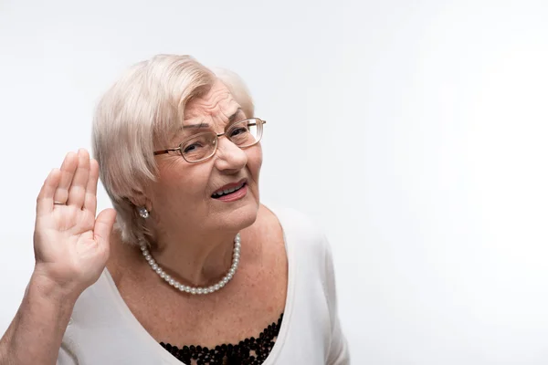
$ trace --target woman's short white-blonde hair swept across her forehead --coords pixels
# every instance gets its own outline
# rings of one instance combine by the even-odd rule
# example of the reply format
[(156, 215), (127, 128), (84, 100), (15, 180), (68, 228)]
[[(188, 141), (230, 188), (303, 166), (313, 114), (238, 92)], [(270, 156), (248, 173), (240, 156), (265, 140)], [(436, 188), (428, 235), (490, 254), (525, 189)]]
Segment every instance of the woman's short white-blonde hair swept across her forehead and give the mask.
[(133, 198), (156, 179), (153, 151), (173, 147), (166, 143), (183, 126), (186, 105), (205, 95), (217, 79), (252, 118), (253, 101), (242, 79), (227, 69), (205, 68), (190, 56), (157, 55), (142, 61), (100, 99), (93, 119), (93, 154), (124, 242), (149, 241)]

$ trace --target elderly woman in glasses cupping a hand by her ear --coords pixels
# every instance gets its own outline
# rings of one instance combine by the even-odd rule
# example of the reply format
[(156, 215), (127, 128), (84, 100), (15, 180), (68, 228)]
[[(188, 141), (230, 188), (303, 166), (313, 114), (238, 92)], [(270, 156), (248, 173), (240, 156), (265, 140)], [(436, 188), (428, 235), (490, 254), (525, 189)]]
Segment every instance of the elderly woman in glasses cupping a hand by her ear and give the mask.
[[(1, 364), (348, 364), (330, 247), (261, 205), (236, 75), (137, 64), (100, 100), (95, 159), (68, 153), (37, 198), (36, 266)], [(114, 209), (96, 217), (98, 179)]]

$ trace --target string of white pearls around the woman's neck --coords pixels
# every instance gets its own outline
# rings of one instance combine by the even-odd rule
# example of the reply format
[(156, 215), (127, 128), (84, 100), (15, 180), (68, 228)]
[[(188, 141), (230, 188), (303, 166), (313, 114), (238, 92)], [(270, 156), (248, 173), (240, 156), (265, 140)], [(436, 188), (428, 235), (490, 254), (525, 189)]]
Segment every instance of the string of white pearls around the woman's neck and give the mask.
[(189, 287), (185, 286), (181, 283), (179, 283), (177, 280), (175, 280), (173, 277), (167, 275), (163, 268), (158, 266), (156, 264), (156, 261), (154, 261), (153, 256), (149, 252), (148, 248), (146, 248), (145, 244), (141, 244), (141, 251), (142, 255), (148, 261), (151, 268), (158, 274), (160, 277), (163, 278), (170, 286), (174, 287), (175, 289), (178, 289), (179, 291), (189, 293), (189, 294), (209, 294), (216, 292), (221, 287), (225, 287), (227, 283), (232, 279), (232, 276), (236, 274), (237, 265), (239, 264), (239, 255), (240, 255), (240, 235), (237, 234), (234, 238), (234, 252), (232, 254), (232, 266), (230, 266), (230, 269), (228, 270), (228, 273), (226, 276), (224, 276), (221, 281), (216, 283), (215, 285), (212, 285), (210, 287)]

